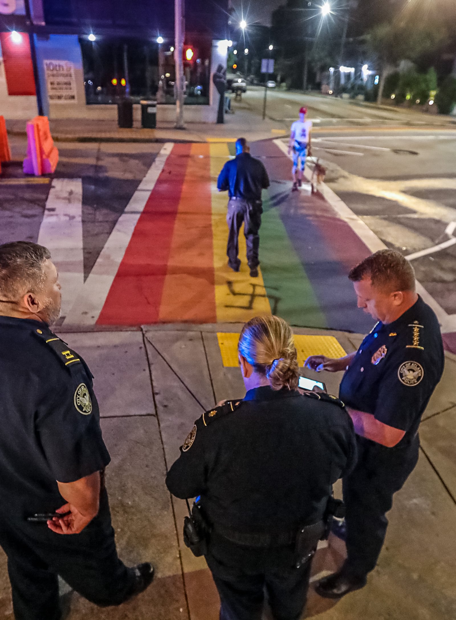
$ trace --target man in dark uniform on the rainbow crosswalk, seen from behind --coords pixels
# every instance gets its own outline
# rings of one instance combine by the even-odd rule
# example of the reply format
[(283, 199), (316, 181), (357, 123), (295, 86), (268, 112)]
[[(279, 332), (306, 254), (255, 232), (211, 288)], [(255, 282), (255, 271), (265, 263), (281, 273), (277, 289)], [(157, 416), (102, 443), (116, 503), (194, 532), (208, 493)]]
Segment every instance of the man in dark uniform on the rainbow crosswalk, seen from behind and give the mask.
[(227, 161), (218, 175), (219, 192), (228, 190), (228, 245), (226, 255), (228, 265), (238, 272), (241, 267), (239, 254), (239, 231), (244, 223), (247, 244), (247, 263), (252, 278), (258, 277), (258, 250), (260, 246), (259, 229), (263, 213), (261, 190), (269, 187), (269, 177), (259, 159), (249, 153), (245, 138), (236, 140), (236, 157)]

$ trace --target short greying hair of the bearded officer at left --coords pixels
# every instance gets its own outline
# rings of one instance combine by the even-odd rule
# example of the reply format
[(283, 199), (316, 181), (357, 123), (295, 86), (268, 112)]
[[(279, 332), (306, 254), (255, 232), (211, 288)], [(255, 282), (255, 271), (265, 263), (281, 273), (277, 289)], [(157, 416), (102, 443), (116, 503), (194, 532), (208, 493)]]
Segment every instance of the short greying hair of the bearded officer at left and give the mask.
[(0, 246), (0, 296), (16, 301), (22, 294), (43, 290), (43, 263), (51, 258), (47, 247), (31, 241), (14, 241)]

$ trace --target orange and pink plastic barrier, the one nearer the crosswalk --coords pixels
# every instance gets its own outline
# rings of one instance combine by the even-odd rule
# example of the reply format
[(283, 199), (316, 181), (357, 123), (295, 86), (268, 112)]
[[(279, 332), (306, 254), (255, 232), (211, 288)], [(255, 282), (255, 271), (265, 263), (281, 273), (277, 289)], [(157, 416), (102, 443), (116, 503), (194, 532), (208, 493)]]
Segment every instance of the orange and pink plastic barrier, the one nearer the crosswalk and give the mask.
[(49, 130), (48, 117), (35, 117), (27, 123), (27, 157), (24, 159), (24, 173), (40, 177), (55, 171), (59, 151)]

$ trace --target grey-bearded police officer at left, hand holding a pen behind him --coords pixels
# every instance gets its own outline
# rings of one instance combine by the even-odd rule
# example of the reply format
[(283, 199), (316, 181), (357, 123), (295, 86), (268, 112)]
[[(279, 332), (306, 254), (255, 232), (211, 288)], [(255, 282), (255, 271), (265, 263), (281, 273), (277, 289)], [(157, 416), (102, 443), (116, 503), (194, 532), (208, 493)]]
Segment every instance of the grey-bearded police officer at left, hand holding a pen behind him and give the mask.
[(101, 606), (153, 578), (150, 564), (129, 569), (117, 555), (92, 374), (49, 329), (60, 306), (49, 251), (0, 246), (0, 545), (16, 620), (61, 618), (58, 575)]

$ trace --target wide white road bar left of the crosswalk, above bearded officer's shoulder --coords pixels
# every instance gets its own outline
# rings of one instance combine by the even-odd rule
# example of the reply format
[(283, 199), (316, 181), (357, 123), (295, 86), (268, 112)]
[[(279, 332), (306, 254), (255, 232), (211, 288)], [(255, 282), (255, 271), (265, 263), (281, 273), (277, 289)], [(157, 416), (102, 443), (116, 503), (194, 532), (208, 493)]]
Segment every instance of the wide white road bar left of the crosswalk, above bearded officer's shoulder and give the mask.
[(62, 316), (71, 310), (84, 285), (82, 179), (53, 179), (38, 244), (51, 252), (62, 286)]

